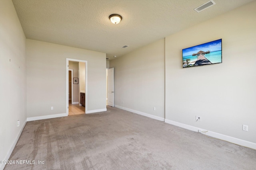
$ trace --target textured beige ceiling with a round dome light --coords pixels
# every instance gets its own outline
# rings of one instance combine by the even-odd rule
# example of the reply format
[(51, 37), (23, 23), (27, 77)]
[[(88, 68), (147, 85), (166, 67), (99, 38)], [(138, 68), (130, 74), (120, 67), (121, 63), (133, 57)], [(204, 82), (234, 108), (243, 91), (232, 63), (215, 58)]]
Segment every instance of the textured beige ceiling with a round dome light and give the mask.
[[(120, 57), (252, 0), (12, 0), (28, 39)], [(120, 14), (114, 25), (108, 19)], [(129, 47), (122, 48), (124, 45)]]

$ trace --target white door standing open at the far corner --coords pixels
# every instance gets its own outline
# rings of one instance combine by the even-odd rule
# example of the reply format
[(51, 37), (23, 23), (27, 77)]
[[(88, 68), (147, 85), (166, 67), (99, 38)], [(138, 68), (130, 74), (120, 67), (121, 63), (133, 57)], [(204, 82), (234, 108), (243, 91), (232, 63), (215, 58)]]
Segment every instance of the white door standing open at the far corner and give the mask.
[(114, 107), (114, 68), (108, 68), (108, 106)]

